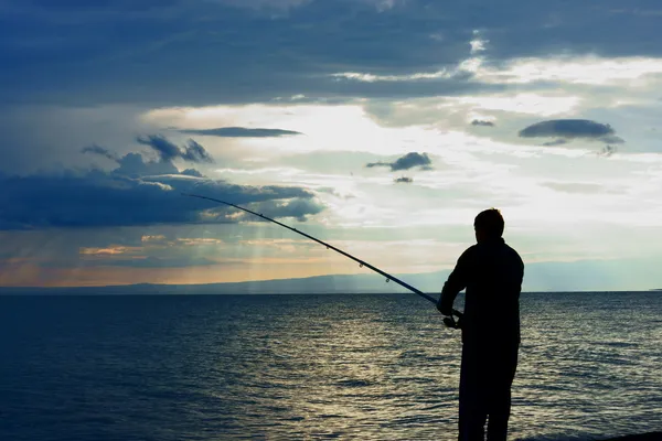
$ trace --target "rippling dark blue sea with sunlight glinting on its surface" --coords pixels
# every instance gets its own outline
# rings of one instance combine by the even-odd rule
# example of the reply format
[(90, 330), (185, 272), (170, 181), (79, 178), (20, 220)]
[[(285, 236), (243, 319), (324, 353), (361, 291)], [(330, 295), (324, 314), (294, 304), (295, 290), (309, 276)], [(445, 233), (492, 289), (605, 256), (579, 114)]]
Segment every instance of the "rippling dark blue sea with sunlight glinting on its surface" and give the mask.
[[(662, 292), (522, 295), (510, 439), (662, 429)], [(453, 440), (415, 294), (0, 297), (1, 440)]]

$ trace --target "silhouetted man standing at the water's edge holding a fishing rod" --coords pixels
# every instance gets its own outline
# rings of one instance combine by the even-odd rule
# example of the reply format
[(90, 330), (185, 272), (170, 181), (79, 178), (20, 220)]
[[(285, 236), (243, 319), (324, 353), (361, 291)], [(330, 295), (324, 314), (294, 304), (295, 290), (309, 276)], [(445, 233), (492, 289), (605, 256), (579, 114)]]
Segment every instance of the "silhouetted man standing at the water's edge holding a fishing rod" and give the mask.
[(520, 346), (520, 291), (524, 263), (503, 238), (501, 213), (476, 216), (477, 244), (458, 259), (444, 284), (437, 309), (451, 315), (457, 294), (467, 289), (460, 370), (460, 441), (505, 440), (511, 385)]

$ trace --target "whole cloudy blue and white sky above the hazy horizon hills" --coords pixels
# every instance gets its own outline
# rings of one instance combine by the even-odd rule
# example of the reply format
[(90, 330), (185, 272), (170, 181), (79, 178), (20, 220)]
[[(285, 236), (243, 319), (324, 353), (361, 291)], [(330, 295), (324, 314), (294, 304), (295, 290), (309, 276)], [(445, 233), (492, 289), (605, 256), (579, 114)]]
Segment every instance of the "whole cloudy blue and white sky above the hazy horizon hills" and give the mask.
[(0, 0), (0, 286), (366, 272), (195, 193), (398, 275), (496, 207), (535, 277), (662, 288), (661, 39), (656, 0)]

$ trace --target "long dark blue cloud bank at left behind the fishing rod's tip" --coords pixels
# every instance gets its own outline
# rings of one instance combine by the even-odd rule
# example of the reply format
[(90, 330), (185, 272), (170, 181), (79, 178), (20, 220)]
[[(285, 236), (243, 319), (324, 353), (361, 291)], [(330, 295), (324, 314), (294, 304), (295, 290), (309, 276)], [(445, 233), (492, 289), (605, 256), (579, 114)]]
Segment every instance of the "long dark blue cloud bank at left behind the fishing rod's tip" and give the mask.
[(145, 162), (138, 153), (118, 162), (111, 172), (0, 176), (0, 229), (237, 222), (226, 207), (181, 193), (248, 204), (267, 216), (299, 220), (323, 209), (303, 187), (236, 185), (179, 174), (172, 163)]

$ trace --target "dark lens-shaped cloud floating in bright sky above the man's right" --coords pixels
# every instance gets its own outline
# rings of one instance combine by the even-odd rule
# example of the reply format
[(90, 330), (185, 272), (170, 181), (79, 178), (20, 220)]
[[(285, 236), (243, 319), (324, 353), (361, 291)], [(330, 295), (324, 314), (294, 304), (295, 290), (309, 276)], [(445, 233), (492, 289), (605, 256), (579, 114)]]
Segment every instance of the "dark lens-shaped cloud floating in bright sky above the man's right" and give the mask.
[(601, 139), (615, 133), (611, 126), (589, 119), (551, 119), (520, 130), (522, 138)]

